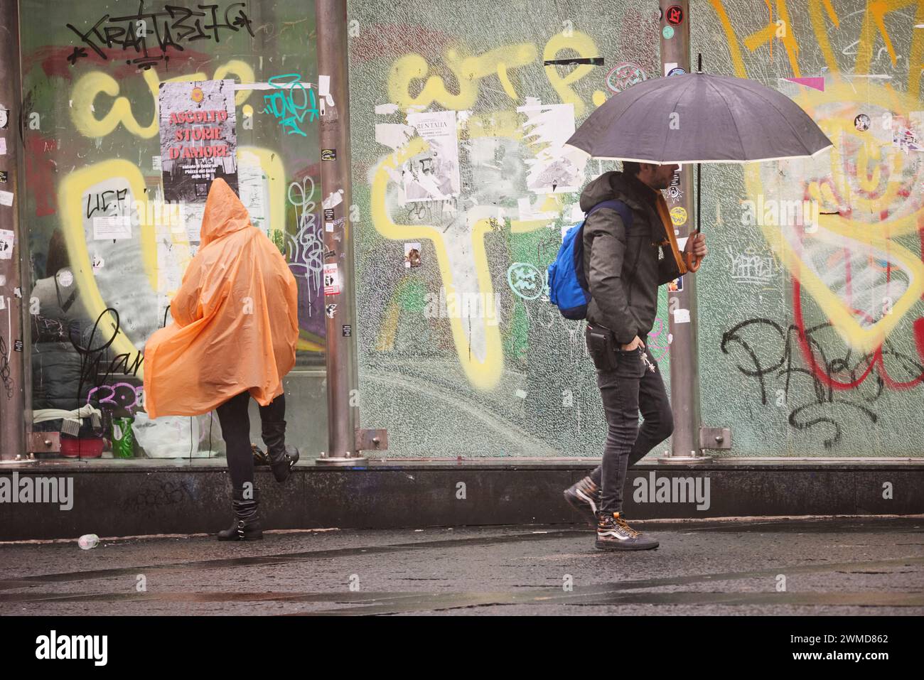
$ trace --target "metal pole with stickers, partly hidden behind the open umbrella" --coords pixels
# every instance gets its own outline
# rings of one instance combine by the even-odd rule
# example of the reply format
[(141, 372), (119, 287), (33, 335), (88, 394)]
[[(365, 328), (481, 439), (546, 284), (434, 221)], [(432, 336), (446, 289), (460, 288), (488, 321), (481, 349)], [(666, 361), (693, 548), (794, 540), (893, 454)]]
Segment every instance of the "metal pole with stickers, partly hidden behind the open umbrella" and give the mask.
[[(660, 0), (662, 76), (690, 72), (689, 0)], [(680, 129), (684, 121), (679, 120)], [(690, 236), (693, 222), (693, 165), (683, 165), (678, 173), (681, 196), (671, 203), (677, 238)], [(682, 208), (682, 211), (675, 210)], [(680, 222), (680, 220), (683, 222)], [(680, 224), (677, 224), (680, 222)], [(699, 448), (699, 367), (697, 347), (696, 274), (683, 277), (683, 290), (668, 293), (668, 328), (671, 341), (671, 407), (674, 409), (674, 436), (671, 454), (659, 458), (663, 463), (689, 463), (708, 460)]]

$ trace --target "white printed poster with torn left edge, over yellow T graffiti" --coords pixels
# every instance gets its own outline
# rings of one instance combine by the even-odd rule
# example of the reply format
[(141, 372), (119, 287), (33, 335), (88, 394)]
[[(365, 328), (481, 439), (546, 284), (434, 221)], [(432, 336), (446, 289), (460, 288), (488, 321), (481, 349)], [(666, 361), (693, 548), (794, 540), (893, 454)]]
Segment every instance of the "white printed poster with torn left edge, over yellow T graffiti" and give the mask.
[(420, 138), (429, 142), (430, 149), (404, 165), (405, 199), (411, 202), (458, 196), (462, 182), (459, 179), (456, 112), (408, 114), (407, 124), (417, 130)]

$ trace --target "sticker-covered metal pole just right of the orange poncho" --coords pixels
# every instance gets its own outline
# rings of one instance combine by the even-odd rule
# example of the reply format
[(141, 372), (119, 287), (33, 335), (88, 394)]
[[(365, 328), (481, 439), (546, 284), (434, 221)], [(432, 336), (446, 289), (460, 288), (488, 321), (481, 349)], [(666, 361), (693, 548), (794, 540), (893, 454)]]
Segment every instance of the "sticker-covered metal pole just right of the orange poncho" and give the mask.
[[(356, 285), (350, 205), (346, 0), (315, 0), (321, 143), (328, 450), (320, 465), (362, 465), (357, 450)], [(350, 407), (353, 400), (354, 407)]]

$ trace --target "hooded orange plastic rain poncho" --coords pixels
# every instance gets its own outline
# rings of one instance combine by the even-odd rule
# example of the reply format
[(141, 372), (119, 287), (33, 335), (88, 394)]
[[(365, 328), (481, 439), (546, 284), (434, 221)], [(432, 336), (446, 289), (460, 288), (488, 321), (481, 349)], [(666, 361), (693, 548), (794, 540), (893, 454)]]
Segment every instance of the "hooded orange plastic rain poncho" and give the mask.
[(197, 416), (245, 390), (261, 406), (283, 393), (298, 342), (295, 277), (224, 179), (209, 190), (201, 246), (170, 312), (144, 348), (150, 418)]

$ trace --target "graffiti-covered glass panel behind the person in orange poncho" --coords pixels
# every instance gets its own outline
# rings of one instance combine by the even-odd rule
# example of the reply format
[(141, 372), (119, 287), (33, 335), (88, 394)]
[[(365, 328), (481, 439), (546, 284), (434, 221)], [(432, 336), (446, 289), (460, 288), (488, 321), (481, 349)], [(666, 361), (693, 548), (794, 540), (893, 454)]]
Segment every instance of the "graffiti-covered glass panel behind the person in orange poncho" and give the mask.
[[(294, 2), (148, 0), (24, 0), (20, 13), (32, 407), (100, 408), (80, 438), (107, 445), (111, 422), (133, 423), (135, 455), (211, 455), (213, 414), (146, 419), (144, 345), (171, 321), (221, 176), (298, 279), (289, 387), (322, 366), (313, 16)], [(296, 408), (325, 431), (322, 408)]]

